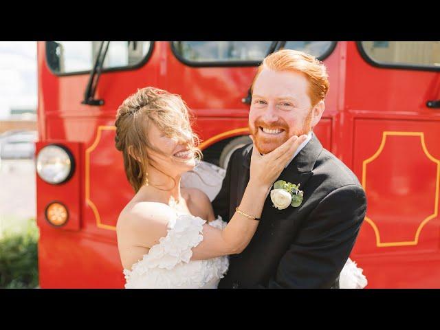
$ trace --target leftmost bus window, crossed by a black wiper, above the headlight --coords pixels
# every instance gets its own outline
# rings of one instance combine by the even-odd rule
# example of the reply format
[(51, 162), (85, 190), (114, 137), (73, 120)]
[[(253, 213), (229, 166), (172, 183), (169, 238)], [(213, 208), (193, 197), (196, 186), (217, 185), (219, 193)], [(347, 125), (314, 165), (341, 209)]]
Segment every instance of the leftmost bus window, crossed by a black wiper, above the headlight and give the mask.
[[(101, 41), (48, 41), (47, 64), (54, 74), (87, 74), (94, 65)], [(104, 60), (106, 69), (130, 69), (145, 63), (151, 41), (111, 41)]]

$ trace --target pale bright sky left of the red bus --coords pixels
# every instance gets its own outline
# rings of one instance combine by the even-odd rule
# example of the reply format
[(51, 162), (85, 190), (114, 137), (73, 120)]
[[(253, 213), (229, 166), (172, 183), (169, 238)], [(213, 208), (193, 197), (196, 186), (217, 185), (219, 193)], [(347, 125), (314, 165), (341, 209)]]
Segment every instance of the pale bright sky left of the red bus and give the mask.
[(0, 120), (10, 108), (36, 109), (36, 42), (0, 41)]

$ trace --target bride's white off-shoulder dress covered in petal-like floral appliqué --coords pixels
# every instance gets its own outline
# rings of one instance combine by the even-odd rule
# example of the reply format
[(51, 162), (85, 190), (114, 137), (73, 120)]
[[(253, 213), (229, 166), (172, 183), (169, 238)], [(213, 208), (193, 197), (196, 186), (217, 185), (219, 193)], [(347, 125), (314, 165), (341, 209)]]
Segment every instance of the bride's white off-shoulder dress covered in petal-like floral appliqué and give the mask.
[[(190, 214), (177, 214), (168, 221), (168, 232), (130, 270), (124, 270), (126, 289), (217, 288), (228, 270), (228, 256), (191, 261), (192, 248), (203, 240), (206, 221)], [(218, 217), (210, 221), (214, 228), (225, 228)]]

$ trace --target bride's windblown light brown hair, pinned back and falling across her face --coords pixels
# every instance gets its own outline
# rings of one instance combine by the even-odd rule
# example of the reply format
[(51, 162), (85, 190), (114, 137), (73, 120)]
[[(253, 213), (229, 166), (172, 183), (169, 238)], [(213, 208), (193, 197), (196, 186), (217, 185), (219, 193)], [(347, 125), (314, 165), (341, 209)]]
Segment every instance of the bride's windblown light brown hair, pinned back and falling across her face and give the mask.
[[(196, 159), (201, 160), (201, 151), (197, 148), (199, 137), (191, 129), (192, 120), (184, 100), (162, 89), (138, 89), (122, 102), (116, 113), (115, 146), (122, 151), (125, 174), (135, 192), (144, 184), (148, 185), (148, 166), (164, 173), (148, 159), (148, 150), (164, 155), (160, 148), (148, 141), (147, 131), (151, 123), (167, 137), (188, 143)], [(175, 182), (173, 177), (170, 178)]]

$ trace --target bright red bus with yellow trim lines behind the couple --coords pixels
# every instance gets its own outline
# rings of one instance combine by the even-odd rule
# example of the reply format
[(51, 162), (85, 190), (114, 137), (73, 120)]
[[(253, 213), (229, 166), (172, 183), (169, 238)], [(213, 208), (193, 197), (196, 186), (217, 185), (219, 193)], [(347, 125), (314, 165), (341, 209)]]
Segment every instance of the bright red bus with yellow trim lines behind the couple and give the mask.
[[(118, 214), (133, 196), (115, 112), (138, 88), (179, 94), (204, 160), (248, 142), (248, 90), (281, 47), (325, 63), (314, 129), (358, 176), (368, 210), (351, 253), (367, 288), (440, 287), (440, 43), (330, 41), (39, 42), (36, 143), (42, 288), (122, 288)], [(340, 207), (340, 206), (338, 206)]]

